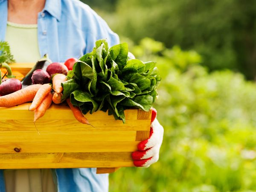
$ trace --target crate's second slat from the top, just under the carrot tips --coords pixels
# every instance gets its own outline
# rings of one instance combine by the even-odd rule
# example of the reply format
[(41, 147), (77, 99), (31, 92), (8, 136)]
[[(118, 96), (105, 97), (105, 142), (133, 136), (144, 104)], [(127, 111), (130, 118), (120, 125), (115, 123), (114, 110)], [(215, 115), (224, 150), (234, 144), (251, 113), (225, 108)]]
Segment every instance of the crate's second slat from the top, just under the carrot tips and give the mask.
[(141, 131), (148, 130), (148, 120), (90, 120), (93, 126), (79, 123), (77, 120), (0, 120), (1, 131)]

